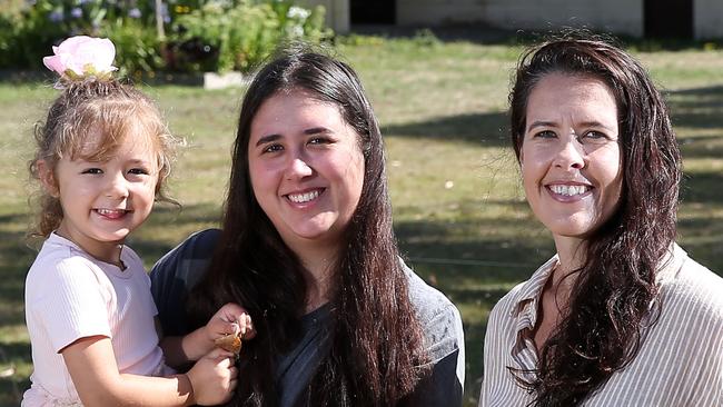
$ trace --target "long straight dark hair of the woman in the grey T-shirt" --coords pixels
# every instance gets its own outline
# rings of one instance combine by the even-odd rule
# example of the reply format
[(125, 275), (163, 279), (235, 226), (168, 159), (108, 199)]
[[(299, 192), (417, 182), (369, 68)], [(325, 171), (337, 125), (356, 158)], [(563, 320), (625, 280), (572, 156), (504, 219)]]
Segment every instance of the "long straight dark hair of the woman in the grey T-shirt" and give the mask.
[(359, 136), (364, 186), (344, 234), (331, 287), (331, 344), (314, 375), (314, 406), (394, 406), (412, 391), (425, 361), (422, 329), (392, 228), (382, 135), (357, 75), (321, 53), (291, 50), (263, 68), (241, 107), (222, 232), (207, 275), (191, 292), (200, 325), (227, 301), (248, 309), (257, 336), (245, 345), (234, 404), (274, 406), (275, 359), (298, 339), (304, 269), (259, 207), (248, 166), (250, 127), (279, 92), (303, 91), (338, 107)]

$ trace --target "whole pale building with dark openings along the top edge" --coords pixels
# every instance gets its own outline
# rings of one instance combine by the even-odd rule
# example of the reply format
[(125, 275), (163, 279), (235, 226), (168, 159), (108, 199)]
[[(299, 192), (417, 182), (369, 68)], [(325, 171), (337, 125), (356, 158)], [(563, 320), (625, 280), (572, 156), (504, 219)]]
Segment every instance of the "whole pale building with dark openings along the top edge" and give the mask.
[(436, 26), (484, 22), (503, 29), (585, 26), (633, 37), (723, 37), (720, 0), (306, 0), (324, 4), (337, 32), (353, 23)]

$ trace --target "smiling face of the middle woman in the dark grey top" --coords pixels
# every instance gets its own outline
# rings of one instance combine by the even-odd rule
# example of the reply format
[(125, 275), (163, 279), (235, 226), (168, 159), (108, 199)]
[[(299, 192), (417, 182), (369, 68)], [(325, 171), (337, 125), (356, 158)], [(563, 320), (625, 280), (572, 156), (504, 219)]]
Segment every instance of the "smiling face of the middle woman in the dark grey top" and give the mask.
[(338, 244), (364, 183), (358, 137), (336, 106), (298, 90), (270, 97), (254, 117), (254, 195), (291, 249)]

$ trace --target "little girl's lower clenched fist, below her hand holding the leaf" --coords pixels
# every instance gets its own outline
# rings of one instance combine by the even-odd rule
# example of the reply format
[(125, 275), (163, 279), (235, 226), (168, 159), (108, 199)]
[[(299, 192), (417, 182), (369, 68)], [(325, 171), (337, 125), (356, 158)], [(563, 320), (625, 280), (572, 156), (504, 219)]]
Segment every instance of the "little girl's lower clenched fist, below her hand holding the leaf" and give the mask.
[(201, 406), (228, 403), (238, 384), (234, 354), (214, 349), (198, 359), (186, 374), (194, 388), (194, 400)]

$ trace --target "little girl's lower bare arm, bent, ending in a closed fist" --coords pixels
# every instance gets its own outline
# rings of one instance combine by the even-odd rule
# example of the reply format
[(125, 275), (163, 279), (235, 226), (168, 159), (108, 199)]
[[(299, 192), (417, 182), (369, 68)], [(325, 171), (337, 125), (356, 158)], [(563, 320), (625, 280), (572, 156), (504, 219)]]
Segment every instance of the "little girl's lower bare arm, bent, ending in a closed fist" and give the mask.
[(232, 355), (215, 349), (185, 375), (147, 377), (120, 374), (110, 339), (92, 336), (61, 350), (85, 406), (189, 406), (228, 401), (236, 387)]

